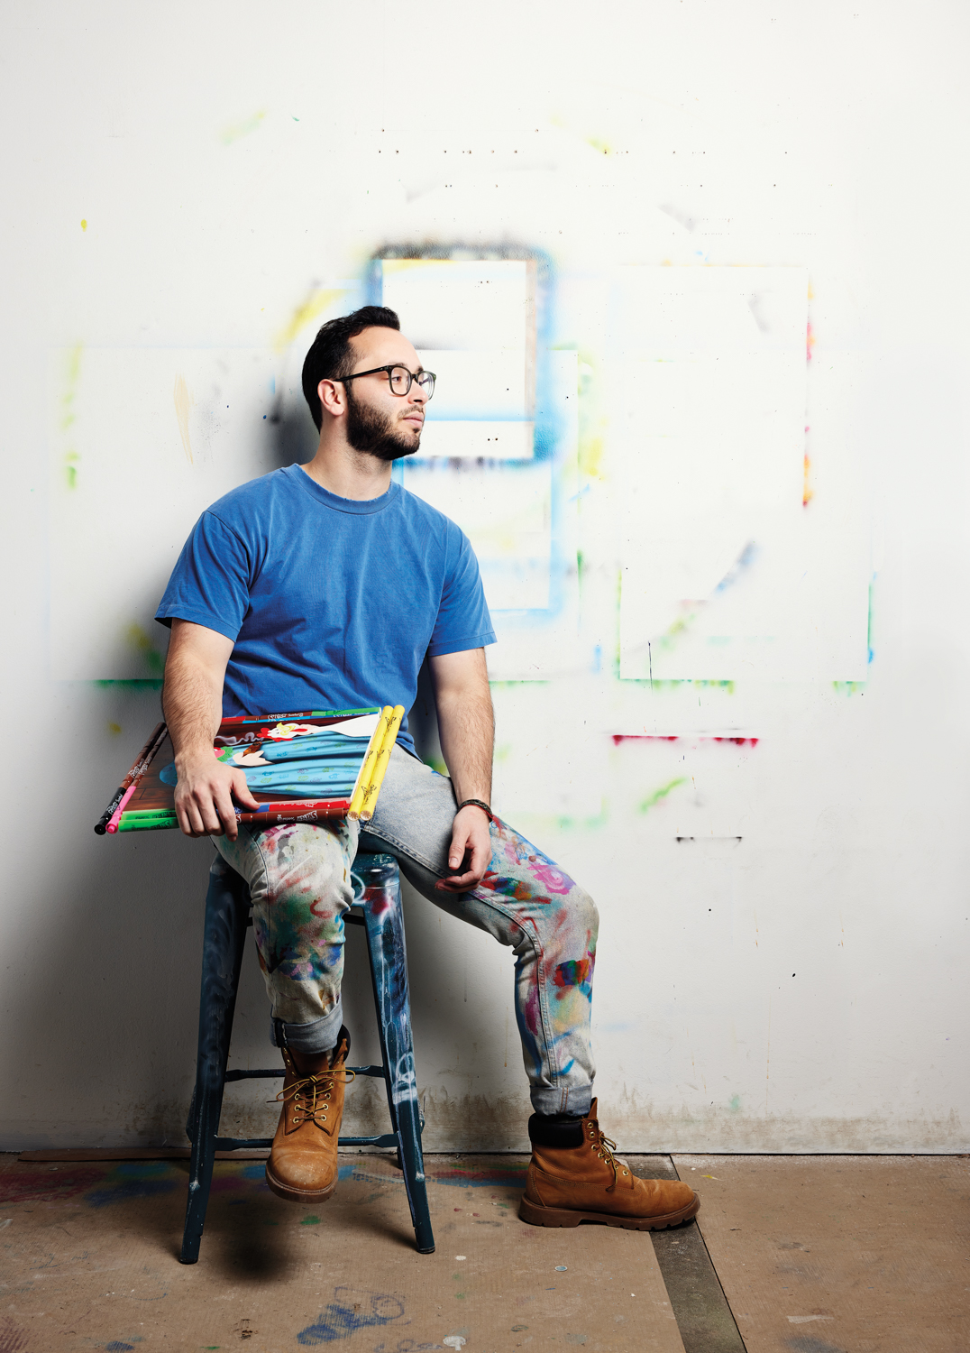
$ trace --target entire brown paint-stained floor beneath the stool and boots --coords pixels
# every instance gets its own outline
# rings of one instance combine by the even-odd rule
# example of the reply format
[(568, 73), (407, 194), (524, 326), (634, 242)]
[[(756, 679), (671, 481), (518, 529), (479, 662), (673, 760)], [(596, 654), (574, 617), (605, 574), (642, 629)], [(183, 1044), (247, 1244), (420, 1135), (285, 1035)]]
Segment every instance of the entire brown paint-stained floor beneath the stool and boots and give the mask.
[(0, 1353), (970, 1350), (966, 1157), (632, 1157), (702, 1196), (652, 1238), (522, 1224), (521, 1157), (426, 1165), (433, 1256), (387, 1157), (345, 1157), (317, 1211), (233, 1160), (185, 1268), (185, 1161), (0, 1157)]

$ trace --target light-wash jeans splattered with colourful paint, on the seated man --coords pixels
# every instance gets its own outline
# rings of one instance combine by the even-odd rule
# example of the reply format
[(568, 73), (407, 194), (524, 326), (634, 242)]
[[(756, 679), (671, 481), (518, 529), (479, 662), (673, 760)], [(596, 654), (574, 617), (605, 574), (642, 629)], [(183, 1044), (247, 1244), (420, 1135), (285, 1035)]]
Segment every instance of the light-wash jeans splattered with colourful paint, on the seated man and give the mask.
[(452, 782), (395, 748), (377, 810), (356, 821), (288, 823), (235, 842), (215, 838), (223, 859), (249, 884), (260, 967), (287, 1042), (317, 1053), (334, 1046), (342, 1022), (344, 915), (352, 902), (357, 850), (394, 855), (430, 902), (488, 931), (515, 954), (515, 1016), (537, 1112), (584, 1114), (593, 1095), (590, 1001), (597, 951), (593, 898), (505, 823), (491, 827), (492, 855), (468, 893), (438, 892), (448, 867)]

